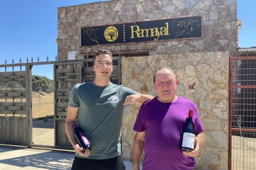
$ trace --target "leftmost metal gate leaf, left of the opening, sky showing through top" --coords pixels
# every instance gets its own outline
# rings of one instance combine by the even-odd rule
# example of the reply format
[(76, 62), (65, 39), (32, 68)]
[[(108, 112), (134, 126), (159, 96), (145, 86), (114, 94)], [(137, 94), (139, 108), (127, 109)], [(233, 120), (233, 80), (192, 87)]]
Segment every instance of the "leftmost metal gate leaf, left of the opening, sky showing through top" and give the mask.
[(0, 144), (32, 143), (31, 67), (28, 63), (0, 65)]

